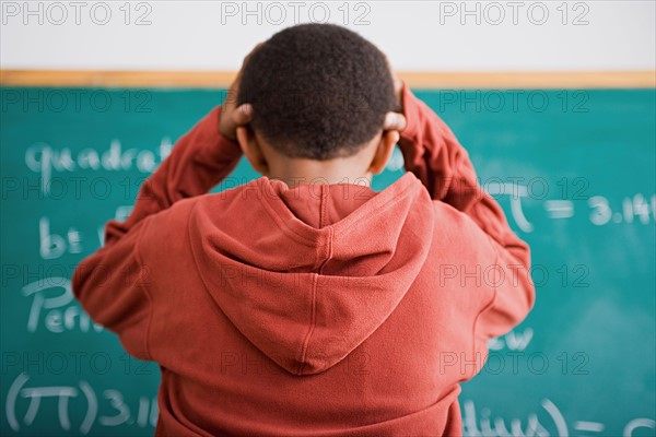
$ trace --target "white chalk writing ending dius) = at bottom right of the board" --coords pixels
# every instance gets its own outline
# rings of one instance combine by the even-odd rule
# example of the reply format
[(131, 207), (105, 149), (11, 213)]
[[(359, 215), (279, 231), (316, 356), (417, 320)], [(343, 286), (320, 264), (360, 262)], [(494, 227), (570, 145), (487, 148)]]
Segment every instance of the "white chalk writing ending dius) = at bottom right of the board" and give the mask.
[[(472, 400), (462, 402), (462, 434), (468, 437), (570, 437), (585, 433), (585, 436), (614, 436), (609, 434), (604, 422), (599, 421), (567, 421), (554, 401), (546, 398), (540, 402), (541, 411), (528, 414), (525, 423), (519, 418), (506, 421), (503, 417), (492, 417), (491, 411), (483, 408), (477, 412)], [(540, 421), (540, 417), (542, 420)], [(508, 426), (509, 423), (509, 426)], [(654, 435), (656, 422), (648, 417), (636, 417), (623, 425), (622, 437)], [(572, 434), (573, 433), (573, 434)], [(618, 436), (619, 437), (619, 436)]]

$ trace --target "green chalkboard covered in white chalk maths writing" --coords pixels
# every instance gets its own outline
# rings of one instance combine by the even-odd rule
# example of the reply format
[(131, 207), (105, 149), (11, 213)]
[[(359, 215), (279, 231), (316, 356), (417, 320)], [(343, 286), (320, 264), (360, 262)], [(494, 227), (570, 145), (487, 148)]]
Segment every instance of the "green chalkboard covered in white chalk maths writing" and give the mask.
[[(465, 434), (655, 435), (656, 92), (418, 95), (532, 247), (536, 308), (464, 385)], [(157, 366), (91, 323), (69, 280), (223, 96), (2, 90), (1, 435), (153, 434)], [(374, 188), (401, 168), (395, 154)], [(255, 177), (243, 162), (218, 189)]]

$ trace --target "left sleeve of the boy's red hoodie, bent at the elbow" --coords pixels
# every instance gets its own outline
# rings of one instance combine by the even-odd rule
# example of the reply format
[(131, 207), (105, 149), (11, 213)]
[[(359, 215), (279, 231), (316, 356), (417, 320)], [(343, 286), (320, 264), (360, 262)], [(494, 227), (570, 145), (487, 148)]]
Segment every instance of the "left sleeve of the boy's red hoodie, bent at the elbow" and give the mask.
[(239, 146), (219, 132), (221, 107), (212, 109), (173, 147), (172, 154), (142, 185), (125, 222), (109, 221), (105, 245), (73, 273), (73, 294), (91, 318), (116, 332), (133, 356), (151, 359), (149, 265), (139, 253), (139, 239), (149, 217), (175, 202), (207, 193), (237, 165)]

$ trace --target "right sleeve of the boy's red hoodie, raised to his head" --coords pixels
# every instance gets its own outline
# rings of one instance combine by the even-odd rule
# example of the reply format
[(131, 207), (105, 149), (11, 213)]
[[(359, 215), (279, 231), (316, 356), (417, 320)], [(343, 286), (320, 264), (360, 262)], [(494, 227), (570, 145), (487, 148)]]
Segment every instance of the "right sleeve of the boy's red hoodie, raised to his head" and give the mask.
[(427, 188), (433, 200), (448, 203), (468, 215), (493, 246), (499, 271), (494, 297), (477, 321), (477, 333), (493, 338), (520, 322), (535, 302), (529, 277), (530, 250), (508, 226), (499, 203), (478, 184), (467, 151), (448, 126), (403, 84), (403, 111), (408, 121), (399, 146), (406, 169)]

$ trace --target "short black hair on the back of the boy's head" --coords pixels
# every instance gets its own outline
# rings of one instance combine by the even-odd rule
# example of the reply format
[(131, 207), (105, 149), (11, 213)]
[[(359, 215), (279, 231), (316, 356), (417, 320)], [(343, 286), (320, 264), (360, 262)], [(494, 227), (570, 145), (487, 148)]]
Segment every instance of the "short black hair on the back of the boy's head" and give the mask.
[(250, 127), (289, 157), (355, 154), (395, 109), (383, 52), (333, 24), (288, 27), (262, 44), (242, 71), (237, 104), (253, 105)]

